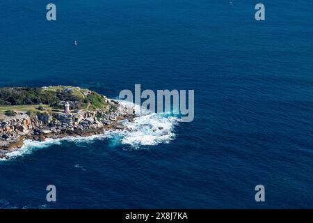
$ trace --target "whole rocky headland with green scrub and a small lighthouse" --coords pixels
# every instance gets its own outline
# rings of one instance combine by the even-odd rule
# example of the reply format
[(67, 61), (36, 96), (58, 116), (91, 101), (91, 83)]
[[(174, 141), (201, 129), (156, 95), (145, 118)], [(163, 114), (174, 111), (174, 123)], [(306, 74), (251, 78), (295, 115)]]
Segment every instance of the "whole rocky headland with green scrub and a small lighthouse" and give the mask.
[(95, 91), (73, 86), (0, 89), (0, 158), (25, 139), (88, 137), (122, 130), (135, 112)]

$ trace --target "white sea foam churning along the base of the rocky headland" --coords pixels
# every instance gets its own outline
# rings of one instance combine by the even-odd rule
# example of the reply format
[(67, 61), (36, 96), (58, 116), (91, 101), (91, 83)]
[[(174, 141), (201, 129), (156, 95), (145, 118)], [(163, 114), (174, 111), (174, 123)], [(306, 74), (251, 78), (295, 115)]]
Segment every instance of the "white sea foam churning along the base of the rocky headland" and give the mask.
[[(95, 140), (118, 139), (118, 144), (125, 144), (131, 148), (140, 148), (141, 146), (154, 146), (157, 144), (168, 144), (175, 139), (174, 128), (179, 122), (179, 118), (168, 114), (156, 114), (147, 110), (140, 111), (138, 105), (131, 102), (121, 102), (125, 107), (134, 108), (138, 116), (134, 122), (121, 121), (127, 130), (107, 131), (104, 134), (97, 134), (90, 137), (65, 137), (62, 139), (46, 139), (45, 141), (25, 140), (24, 146), (17, 151), (7, 153), (9, 158), (28, 155), (42, 148), (52, 145), (60, 145), (63, 141), (71, 141), (79, 147), (87, 147)], [(0, 159), (7, 160), (6, 158)]]

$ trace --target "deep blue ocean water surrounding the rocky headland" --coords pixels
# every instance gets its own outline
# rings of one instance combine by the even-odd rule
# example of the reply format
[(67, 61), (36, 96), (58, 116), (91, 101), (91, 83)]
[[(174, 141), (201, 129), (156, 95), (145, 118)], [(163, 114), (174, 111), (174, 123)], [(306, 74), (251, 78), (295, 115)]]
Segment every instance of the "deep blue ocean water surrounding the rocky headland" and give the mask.
[(29, 142), (0, 208), (313, 208), (313, 2), (262, 1), (263, 22), (256, 3), (1, 1), (0, 86), (194, 89), (195, 119), (151, 145)]

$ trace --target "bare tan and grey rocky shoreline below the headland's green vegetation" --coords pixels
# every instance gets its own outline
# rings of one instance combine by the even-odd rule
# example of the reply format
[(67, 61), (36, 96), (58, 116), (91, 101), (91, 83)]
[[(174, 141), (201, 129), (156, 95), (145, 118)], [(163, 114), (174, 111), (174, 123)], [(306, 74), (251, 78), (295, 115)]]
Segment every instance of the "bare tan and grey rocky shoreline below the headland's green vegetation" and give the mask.
[[(17, 116), (0, 121), (0, 159), (7, 153), (17, 151), (24, 140), (45, 141), (64, 137), (90, 137), (105, 131), (124, 130), (121, 121), (134, 121), (135, 112), (119, 102), (107, 99), (106, 111), (79, 110), (72, 113), (36, 114), (30, 116), (18, 112)], [(110, 109), (114, 107), (114, 111)]]

